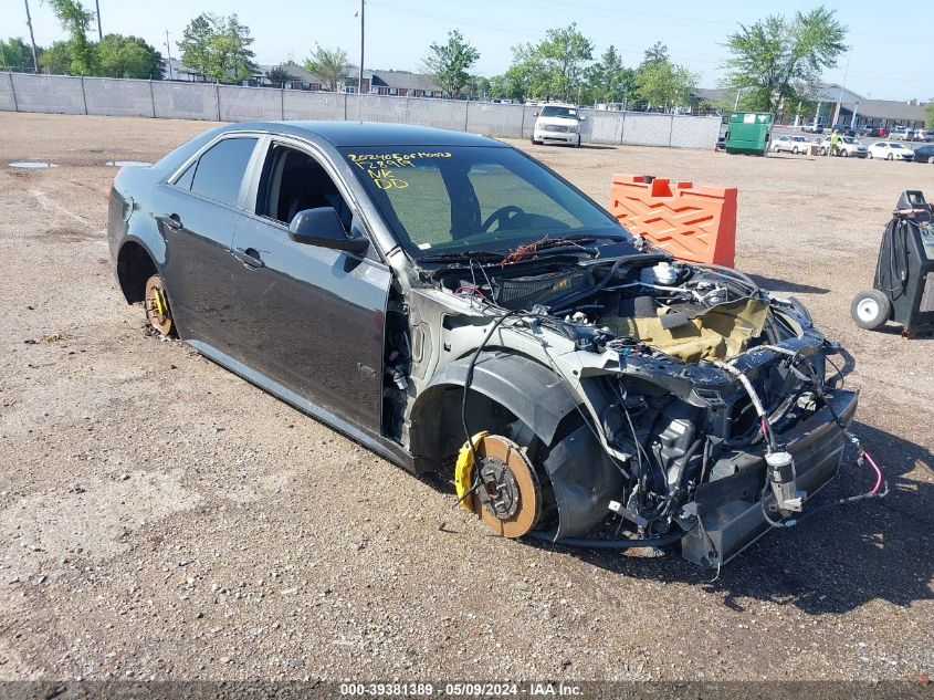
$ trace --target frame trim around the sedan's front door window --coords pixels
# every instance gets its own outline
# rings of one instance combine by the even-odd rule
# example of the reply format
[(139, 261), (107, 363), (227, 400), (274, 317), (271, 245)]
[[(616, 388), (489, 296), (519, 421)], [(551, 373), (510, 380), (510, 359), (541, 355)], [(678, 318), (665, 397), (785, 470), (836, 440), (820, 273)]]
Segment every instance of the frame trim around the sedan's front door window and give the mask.
[[(322, 167), (322, 169), (324, 169), (324, 171), (337, 187), (337, 191), (344, 198), (344, 201), (347, 202), (347, 205), (350, 207), (351, 220), (357, 219), (357, 221), (359, 221), (360, 233), (366, 236), (369, 240), (367, 251), (363, 255), (353, 253), (350, 251), (342, 252), (347, 255), (350, 255), (354, 260), (365, 260), (367, 262), (375, 263), (381, 268), (389, 269), (386, 255), (384, 254), (382, 250), (380, 250), (379, 245), (376, 244), (376, 237), (371, 232), (369, 221), (367, 221), (366, 217), (364, 216), (363, 209), (357, 202), (357, 198), (353, 196), (350, 188), (347, 187), (347, 184), (343, 180), (340, 175), (337, 173), (336, 168), (333, 167), (333, 165), (327, 158), (327, 155), (314, 144), (306, 142), (302, 138), (290, 136), (286, 134), (265, 134), (265, 139), (261, 144), (261, 148), (253, 153), (255, 161), (253, 163), (253, 170), (250, 176), (249, 184), (244, 181), (244, 184), (246, 184), (248, 186), (245, 191), (246, 199), (244, 201), (244, 207), (242, 211), (243, 216), (253, 219), (254, 221), (262, 221), (267, 226), (281, 229), (285, 233), (285, 236), (288, 236), (287, 223), (283, 223), (279, 219), (273, 219), (271, 217), (265, 217), (256, 213), (256, 207), (259, 205), (258, 199), (260, 197), (260, 180), (263, 177), (263, 168), (265, 167), (266, 158), (269, 158), (273, 147), (276, 144), (281, 144), (282, 146), (286, 146), (288, 148), (294, 148), (295, 150), (302, 152), (307, 156), (314, 158), (315, 163), (317, 163)], [(376, 260), (370, 257), (370, 250), (374, 250), (376, 252)]]

